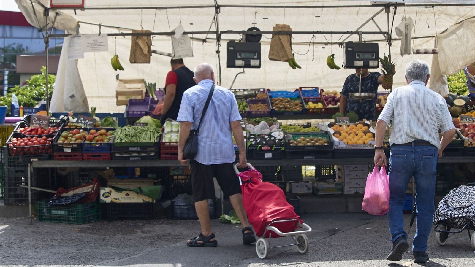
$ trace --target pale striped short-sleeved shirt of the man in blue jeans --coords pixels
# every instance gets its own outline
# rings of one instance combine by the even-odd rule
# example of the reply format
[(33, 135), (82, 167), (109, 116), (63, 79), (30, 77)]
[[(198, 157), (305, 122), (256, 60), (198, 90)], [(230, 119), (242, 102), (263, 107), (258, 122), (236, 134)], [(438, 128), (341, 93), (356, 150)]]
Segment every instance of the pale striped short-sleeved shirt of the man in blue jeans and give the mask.
[(378, 119), (388, 125), (392, 119), (391, 145), (424, 140), (440, 148), (439, 129), (445, 133), (454, 128), (445, 99), (421, 81), (396, 88)]

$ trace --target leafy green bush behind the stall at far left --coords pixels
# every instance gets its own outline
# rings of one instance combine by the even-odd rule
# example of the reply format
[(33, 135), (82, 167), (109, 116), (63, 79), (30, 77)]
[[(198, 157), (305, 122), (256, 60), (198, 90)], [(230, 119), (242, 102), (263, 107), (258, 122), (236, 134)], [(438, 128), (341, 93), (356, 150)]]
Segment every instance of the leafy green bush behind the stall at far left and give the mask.
[[(56, 76), (48, 75), (49, 99), (53, 95)], [(8, 106), (7, 116), (10, 115), (11, 95), (18, 97), (18, 104), (23, 107), (35, 107), (39, 101), (46, 99), (46, 67), (41, 67), (41, 74), (33, 75), (27, 80), (26, 86), (15, 86), (8, 90), (6, 96), (0, 96), (0, 105)]]

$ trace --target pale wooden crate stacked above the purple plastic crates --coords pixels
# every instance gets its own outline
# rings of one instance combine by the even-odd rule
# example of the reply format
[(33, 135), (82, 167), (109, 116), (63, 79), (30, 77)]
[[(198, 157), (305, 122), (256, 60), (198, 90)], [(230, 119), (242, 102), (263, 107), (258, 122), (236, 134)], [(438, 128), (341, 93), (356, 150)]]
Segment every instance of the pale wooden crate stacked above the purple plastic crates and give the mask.
[(142, 79), (119, 79), (115, 87), (115, 104), (128, 105), (129, 99), (143, 99), (144, 94)]

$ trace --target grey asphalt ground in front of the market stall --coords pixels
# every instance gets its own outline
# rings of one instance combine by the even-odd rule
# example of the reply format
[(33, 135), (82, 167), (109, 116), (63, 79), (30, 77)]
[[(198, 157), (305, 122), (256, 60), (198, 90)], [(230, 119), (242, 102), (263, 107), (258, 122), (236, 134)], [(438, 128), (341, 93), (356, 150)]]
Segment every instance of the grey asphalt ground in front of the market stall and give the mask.
[[(257, 257), (254, 245), (242, 245), (240, 227), (219, 220), (212, 220), (218, 247), (189, 248), (186, 239), (199, 234), (196, 220), (103, 220), (67, 225), (0, 219), (0, 266), (417, 266), (410, 249), (400, 262), (386, 260), (391, 244), (385, 217), (310, 213), (302, 215), (302, 219), (313, 228), (307, 235), (308, 253), (300, 254), (295, 247), (272, 248), (264, 260)], [(409, 224), (409, 215), (406, 222)], [(411, 229), (410, 239), (414, 231)], [(446, 246), (439, 247), (434, 236), (433, 232), (428, 250), (431, 260), (426, 266), (475, 266), (470, 241), (448, 239)], [(455, 237), (466, 238), (467, 234)], [(270, 239), (271, 246), (290, 243), (290, 237)]]

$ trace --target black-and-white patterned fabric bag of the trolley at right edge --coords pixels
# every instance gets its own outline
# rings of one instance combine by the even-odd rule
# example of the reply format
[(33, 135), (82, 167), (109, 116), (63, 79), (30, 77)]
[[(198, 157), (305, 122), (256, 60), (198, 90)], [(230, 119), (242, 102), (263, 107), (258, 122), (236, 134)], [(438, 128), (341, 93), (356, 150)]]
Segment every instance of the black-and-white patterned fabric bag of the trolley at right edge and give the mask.
[(462, 185), (452, 189), (442, 200), (434, 214), (434, 225), (438, 223), (455, 229), (463, 228), (467, 222), (475, 230), (475, 186)]

